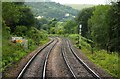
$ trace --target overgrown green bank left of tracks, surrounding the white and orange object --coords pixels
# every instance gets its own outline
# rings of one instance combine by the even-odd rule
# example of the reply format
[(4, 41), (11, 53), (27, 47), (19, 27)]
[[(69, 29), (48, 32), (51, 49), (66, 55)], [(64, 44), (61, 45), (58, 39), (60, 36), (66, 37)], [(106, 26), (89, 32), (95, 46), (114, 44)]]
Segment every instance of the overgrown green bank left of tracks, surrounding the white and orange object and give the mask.
[(28, 48), (25, 49), (20, 43), (11, 42), (11, 37), (17, 35), (10, 34), (8, 27), (4, 27), (2, 30), (2, 61), (0, 61), (2, 68), (0, 72), (4, 72), (6, 68), (14, 66), (15, 63), (19, 62), (38, 46), (49, 41), (47, 33), (42, 30), (31, 28), (31, 30), (28, 31), (29, 35), (26, 33), (26, 36), (23, 36), (28, 40)]

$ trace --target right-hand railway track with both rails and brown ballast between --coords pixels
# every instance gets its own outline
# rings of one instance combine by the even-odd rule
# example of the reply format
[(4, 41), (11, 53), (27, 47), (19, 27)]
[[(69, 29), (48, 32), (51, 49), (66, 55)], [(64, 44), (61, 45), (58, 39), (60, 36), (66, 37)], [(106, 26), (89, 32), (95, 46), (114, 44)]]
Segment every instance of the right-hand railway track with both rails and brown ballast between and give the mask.
[(77, 78), (91, 78), (101, 79), (86, 63), (80, 59), (73, 50), (69, 40), (63, 39), (62, 55), (64, 61), (69, 68), (71, 74), (75, 79)]

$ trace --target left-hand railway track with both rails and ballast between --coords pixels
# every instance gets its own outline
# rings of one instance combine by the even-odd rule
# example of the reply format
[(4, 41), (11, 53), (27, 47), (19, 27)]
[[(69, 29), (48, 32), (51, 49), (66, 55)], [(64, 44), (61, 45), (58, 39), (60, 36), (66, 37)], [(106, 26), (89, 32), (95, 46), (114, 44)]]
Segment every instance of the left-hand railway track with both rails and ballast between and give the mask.
[(43, 46), (23, 67), (17, 79), (33, 77), (45, 79), (48, 56), (57, 42), (58, 39), (55, 38)]

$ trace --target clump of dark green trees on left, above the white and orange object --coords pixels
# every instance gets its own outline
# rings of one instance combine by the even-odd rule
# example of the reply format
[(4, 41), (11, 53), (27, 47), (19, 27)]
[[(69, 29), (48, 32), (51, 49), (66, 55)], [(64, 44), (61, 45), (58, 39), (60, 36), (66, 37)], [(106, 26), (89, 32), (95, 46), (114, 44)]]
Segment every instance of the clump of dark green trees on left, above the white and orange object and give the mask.
[[(26, 6), (24, 2), (3, 2), (2, 19), (3, 34), (9, 31), (11, 36), (30, 38), (36, 45), (39, 45), (42, 39), (47, 39), (47, 35), (43, 35), (46, 34), (45, 31), (37, 28), (41, 26), (39, 20), (35, 18), (30, 7)], [(6, 33), (6, 36), (8, 35)]]

